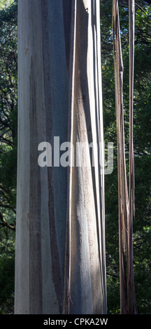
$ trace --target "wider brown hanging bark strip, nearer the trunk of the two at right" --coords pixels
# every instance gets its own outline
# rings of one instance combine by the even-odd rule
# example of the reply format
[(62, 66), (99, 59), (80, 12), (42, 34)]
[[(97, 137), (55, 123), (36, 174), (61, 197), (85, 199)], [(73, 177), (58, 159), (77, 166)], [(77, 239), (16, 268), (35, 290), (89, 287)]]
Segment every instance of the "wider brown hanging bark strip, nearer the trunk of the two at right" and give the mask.
[[(116, 43), (115, 43), (116, 41)], [(113, 47), (115, 60), (115, 104), (117, 117), (117, 165), (118, 165), (118, 197), (119, 197), (119, 248), (120, 248), (120, 303), (121, 313), (127, 314), (127, 221), (128, 190), (124, 148), (124, 113), (123, 113), (123, 63), (120, 42), (120, 22), (118, 1), (113, 0)], [(124, 247), (125, 246), (125, 247)]]

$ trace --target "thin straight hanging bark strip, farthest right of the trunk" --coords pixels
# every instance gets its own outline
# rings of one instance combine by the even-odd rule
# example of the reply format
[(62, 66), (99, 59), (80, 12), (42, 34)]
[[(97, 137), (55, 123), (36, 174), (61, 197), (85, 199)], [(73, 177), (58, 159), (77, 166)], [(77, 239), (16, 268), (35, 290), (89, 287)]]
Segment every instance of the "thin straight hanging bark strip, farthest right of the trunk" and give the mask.
[(133, 145), (133, 116), (134, 116), (134, 25), (135, 3), (129, 0), (129, 265), (128, 265), (128, 291), (129, 313), (136, 314), (136, 297), (133, 269), (133, 216), (135, 215), (134, 196), (134, 145)]

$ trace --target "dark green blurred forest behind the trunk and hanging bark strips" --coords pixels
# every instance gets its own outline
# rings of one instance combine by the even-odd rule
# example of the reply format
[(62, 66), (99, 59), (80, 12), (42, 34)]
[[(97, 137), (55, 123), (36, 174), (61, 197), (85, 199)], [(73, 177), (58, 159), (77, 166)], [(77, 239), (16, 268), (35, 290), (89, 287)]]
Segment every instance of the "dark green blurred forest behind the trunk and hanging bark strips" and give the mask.
[[(129, 160), (128, 1), (119, 0), (119, 6), (124, 62), (125, 143)], [(105, 175), (107, 302), (108, 314), (120, 314), (112, 0), (101, 0), (100, 8), (104, 141), (106, 144), (114, 143), (113, 173)], [(135, 8), (134, 278), (138, 313), (151, 314), (151, 0), (137, 0)], [(0, 314), (13, 314), (16, 179), (17, 1), (0, 0)]]

